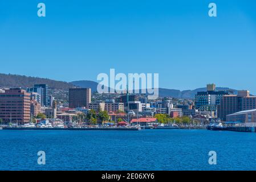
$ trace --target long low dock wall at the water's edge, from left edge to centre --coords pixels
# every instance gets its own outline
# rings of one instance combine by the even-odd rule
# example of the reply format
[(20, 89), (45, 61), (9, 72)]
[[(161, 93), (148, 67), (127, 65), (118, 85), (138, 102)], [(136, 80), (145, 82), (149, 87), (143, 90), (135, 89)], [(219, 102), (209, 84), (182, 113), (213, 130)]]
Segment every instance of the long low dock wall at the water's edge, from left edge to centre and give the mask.
[(129, 127), (3, 127), (3, 130), (91, 130), (91, 131), (138, 131), (139, 128)]

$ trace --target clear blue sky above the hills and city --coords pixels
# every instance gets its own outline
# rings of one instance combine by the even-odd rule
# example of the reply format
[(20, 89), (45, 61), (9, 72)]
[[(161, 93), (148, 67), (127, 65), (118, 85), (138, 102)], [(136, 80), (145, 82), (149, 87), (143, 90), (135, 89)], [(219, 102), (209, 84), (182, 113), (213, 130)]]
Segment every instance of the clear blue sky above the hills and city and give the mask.
[(96, 81), (115, 68), (159, 73), (162, 88), (214, 82), (256, 94), (255, 8), (253, 0), (1, 0), (0, 72)]

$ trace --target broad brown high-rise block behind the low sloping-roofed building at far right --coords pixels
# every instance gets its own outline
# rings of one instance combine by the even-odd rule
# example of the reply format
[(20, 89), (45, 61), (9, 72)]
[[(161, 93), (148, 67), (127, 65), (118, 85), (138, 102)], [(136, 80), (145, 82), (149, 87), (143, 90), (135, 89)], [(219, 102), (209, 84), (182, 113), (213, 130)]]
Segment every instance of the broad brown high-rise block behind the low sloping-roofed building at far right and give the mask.
[(226, 121), (226, 115), (251, 109), (256, 109), (256, 96), (250, 96), (247, 90), (238, 91), (237, 95), (222, 97), (218, 105), (218, 118)]

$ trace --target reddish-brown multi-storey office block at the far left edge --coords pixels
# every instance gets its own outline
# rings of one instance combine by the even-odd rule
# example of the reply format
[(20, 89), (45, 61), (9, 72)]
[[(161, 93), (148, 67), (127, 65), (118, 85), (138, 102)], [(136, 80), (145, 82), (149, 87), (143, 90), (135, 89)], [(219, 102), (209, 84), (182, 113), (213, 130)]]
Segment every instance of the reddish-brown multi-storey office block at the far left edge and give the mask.
[(0, 93), (0, 118), (3, 122), (29, 122), (30, 93), (19, 88)]

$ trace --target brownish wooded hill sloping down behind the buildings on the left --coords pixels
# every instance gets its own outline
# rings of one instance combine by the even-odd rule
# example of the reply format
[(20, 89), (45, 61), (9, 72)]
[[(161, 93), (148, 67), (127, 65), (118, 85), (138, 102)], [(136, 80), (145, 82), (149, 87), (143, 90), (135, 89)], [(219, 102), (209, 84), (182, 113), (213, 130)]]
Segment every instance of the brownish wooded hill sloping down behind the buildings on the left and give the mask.
[(55, 81), (48, 78), (38, 78), (11, 74), (7, 75), (0, 73), (0, 87), (26, 88), (31, 87), (34, 84), (48, 84), (50, 89), (58, 90), (68, 90), (68, 88), (74, 87), (74, 85), (64, 81)]

